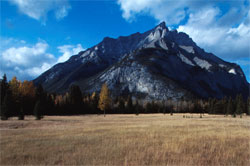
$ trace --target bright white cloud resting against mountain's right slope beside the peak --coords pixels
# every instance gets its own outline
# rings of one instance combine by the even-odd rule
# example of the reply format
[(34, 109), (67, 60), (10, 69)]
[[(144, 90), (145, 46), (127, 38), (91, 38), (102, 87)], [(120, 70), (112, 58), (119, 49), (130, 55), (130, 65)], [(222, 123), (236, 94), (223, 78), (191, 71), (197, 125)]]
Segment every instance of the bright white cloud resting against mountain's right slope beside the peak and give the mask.
[(200, 47), (222, 58), (249, 57), (250, 26), (244, 22), (235, 27), (222, 26), (220, 13), (218, 8), (209, 8), (190, 14), (188, 22), (179, 26), (178, 31), (186, 32)]

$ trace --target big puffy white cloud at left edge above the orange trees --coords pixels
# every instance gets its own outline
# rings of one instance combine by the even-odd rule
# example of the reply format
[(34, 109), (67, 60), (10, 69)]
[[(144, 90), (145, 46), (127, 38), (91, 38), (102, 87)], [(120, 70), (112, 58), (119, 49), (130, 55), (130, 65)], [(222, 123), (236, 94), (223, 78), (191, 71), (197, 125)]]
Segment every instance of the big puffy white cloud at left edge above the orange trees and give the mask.
[[(26, 42), (20, 41), (20, 43)], [(17, 76), (22, 80), (41, 74), (56, 61), (56, 57), (47, 52), (48, 47), (45, 41), (38, 41), (34, 45), (9, 47), (2, 50), (0, 52), (1, 73), (6, 73), (10, 78)]]

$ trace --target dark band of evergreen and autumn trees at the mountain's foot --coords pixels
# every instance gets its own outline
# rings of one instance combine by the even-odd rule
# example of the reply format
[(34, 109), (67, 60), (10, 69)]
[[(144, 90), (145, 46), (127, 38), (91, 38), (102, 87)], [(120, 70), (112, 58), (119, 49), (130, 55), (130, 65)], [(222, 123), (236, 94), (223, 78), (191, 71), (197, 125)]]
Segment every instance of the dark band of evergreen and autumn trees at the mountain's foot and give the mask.
[(111, 98), (110, 90), (103, 84), (100, 93), (83, 94), (77, 85), (71, 85), (65, 94), (47, 93), (41, 85), (35, 87), (31, 81), (19, 81), (6, 75), (1, 81), (1, 119), (34, 115), (37, 120), (43, 115), (83, 114), (136, 114), (141, 113), (209, 113), (236, 117), (250, 114), (250, 99), (236, 98), (144, 101), (131, 96)]

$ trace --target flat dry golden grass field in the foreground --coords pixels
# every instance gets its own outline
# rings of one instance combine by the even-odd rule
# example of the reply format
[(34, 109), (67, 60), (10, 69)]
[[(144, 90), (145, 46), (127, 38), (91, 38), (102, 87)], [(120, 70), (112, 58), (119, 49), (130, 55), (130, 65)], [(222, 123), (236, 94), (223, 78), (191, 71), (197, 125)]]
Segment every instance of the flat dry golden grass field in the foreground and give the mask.
[(0, 165), (250, 165), (250, 117), (183, 115), (0, 121)]

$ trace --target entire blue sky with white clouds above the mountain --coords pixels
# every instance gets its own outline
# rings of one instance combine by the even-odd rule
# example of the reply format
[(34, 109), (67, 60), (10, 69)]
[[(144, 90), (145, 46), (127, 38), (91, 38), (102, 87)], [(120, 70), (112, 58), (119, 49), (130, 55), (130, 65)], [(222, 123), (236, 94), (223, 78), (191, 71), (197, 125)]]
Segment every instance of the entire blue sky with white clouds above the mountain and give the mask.
[(1, 0), (0, 74), (32, 80), (106, 37), (165, 21), (250, 81), (250, 0)]

